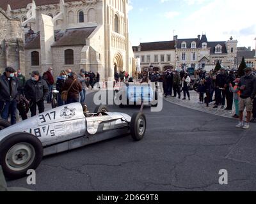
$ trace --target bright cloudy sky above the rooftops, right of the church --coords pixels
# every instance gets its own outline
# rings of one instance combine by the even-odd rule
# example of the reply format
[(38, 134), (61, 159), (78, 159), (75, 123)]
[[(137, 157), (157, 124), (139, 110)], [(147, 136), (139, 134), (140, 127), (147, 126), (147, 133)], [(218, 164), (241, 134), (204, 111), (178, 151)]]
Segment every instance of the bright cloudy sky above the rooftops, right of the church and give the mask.
[(226, 41), (255, 48), (256, 0), (129, 0), (129, 35), (140, 42), (197, 38)]

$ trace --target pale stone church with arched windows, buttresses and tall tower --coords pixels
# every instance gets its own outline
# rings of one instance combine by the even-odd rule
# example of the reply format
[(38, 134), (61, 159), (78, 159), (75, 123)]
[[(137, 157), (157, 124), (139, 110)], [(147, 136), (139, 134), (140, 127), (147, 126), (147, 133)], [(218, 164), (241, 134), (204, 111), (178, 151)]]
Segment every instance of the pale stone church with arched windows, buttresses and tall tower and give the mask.
[(135, 69), (127, 0), (1, 0), (0, 7), (22, 22), (27, 76), (52, 66), (54, 77), (84, 68), (111, 80)]

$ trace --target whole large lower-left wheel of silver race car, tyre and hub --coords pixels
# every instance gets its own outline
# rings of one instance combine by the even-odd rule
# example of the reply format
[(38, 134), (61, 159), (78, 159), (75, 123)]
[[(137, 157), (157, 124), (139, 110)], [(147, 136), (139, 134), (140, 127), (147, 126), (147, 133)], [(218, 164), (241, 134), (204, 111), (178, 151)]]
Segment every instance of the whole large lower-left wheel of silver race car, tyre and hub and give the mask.
[(0, 144), (0, 164), (9, 179), (19, 179), (28, 170), (36, 170), (42, 157), (42, 143), (29, 133), (15, 133)]

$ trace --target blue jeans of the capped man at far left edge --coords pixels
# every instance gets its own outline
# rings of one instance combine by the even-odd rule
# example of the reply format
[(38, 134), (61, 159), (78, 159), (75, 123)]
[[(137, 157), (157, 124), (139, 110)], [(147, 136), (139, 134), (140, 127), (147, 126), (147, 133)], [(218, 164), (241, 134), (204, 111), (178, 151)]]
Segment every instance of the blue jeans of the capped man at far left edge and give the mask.
[(16, 111), (17, 111), (17, 101), (0, 101), (1, 117), (4, 120), (8, 120), (9, 113), (11, 114), (11, 124), (16, 123)]

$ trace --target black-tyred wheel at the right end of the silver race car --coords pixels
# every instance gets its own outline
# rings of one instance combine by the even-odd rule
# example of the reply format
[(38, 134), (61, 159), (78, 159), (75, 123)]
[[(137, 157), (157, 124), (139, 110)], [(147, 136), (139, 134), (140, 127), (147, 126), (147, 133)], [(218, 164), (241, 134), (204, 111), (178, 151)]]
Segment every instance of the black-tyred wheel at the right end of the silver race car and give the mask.
[[(143, 127), (142, 127), (142, 126)], [(143, 139), (146, 128), (147, 128), (147, 120), (143, 113), (134, 113), (131, 119), (131, 136), (134, 141), (140, 141)], [(142, 129), (143, 128), (143, 129)]]

